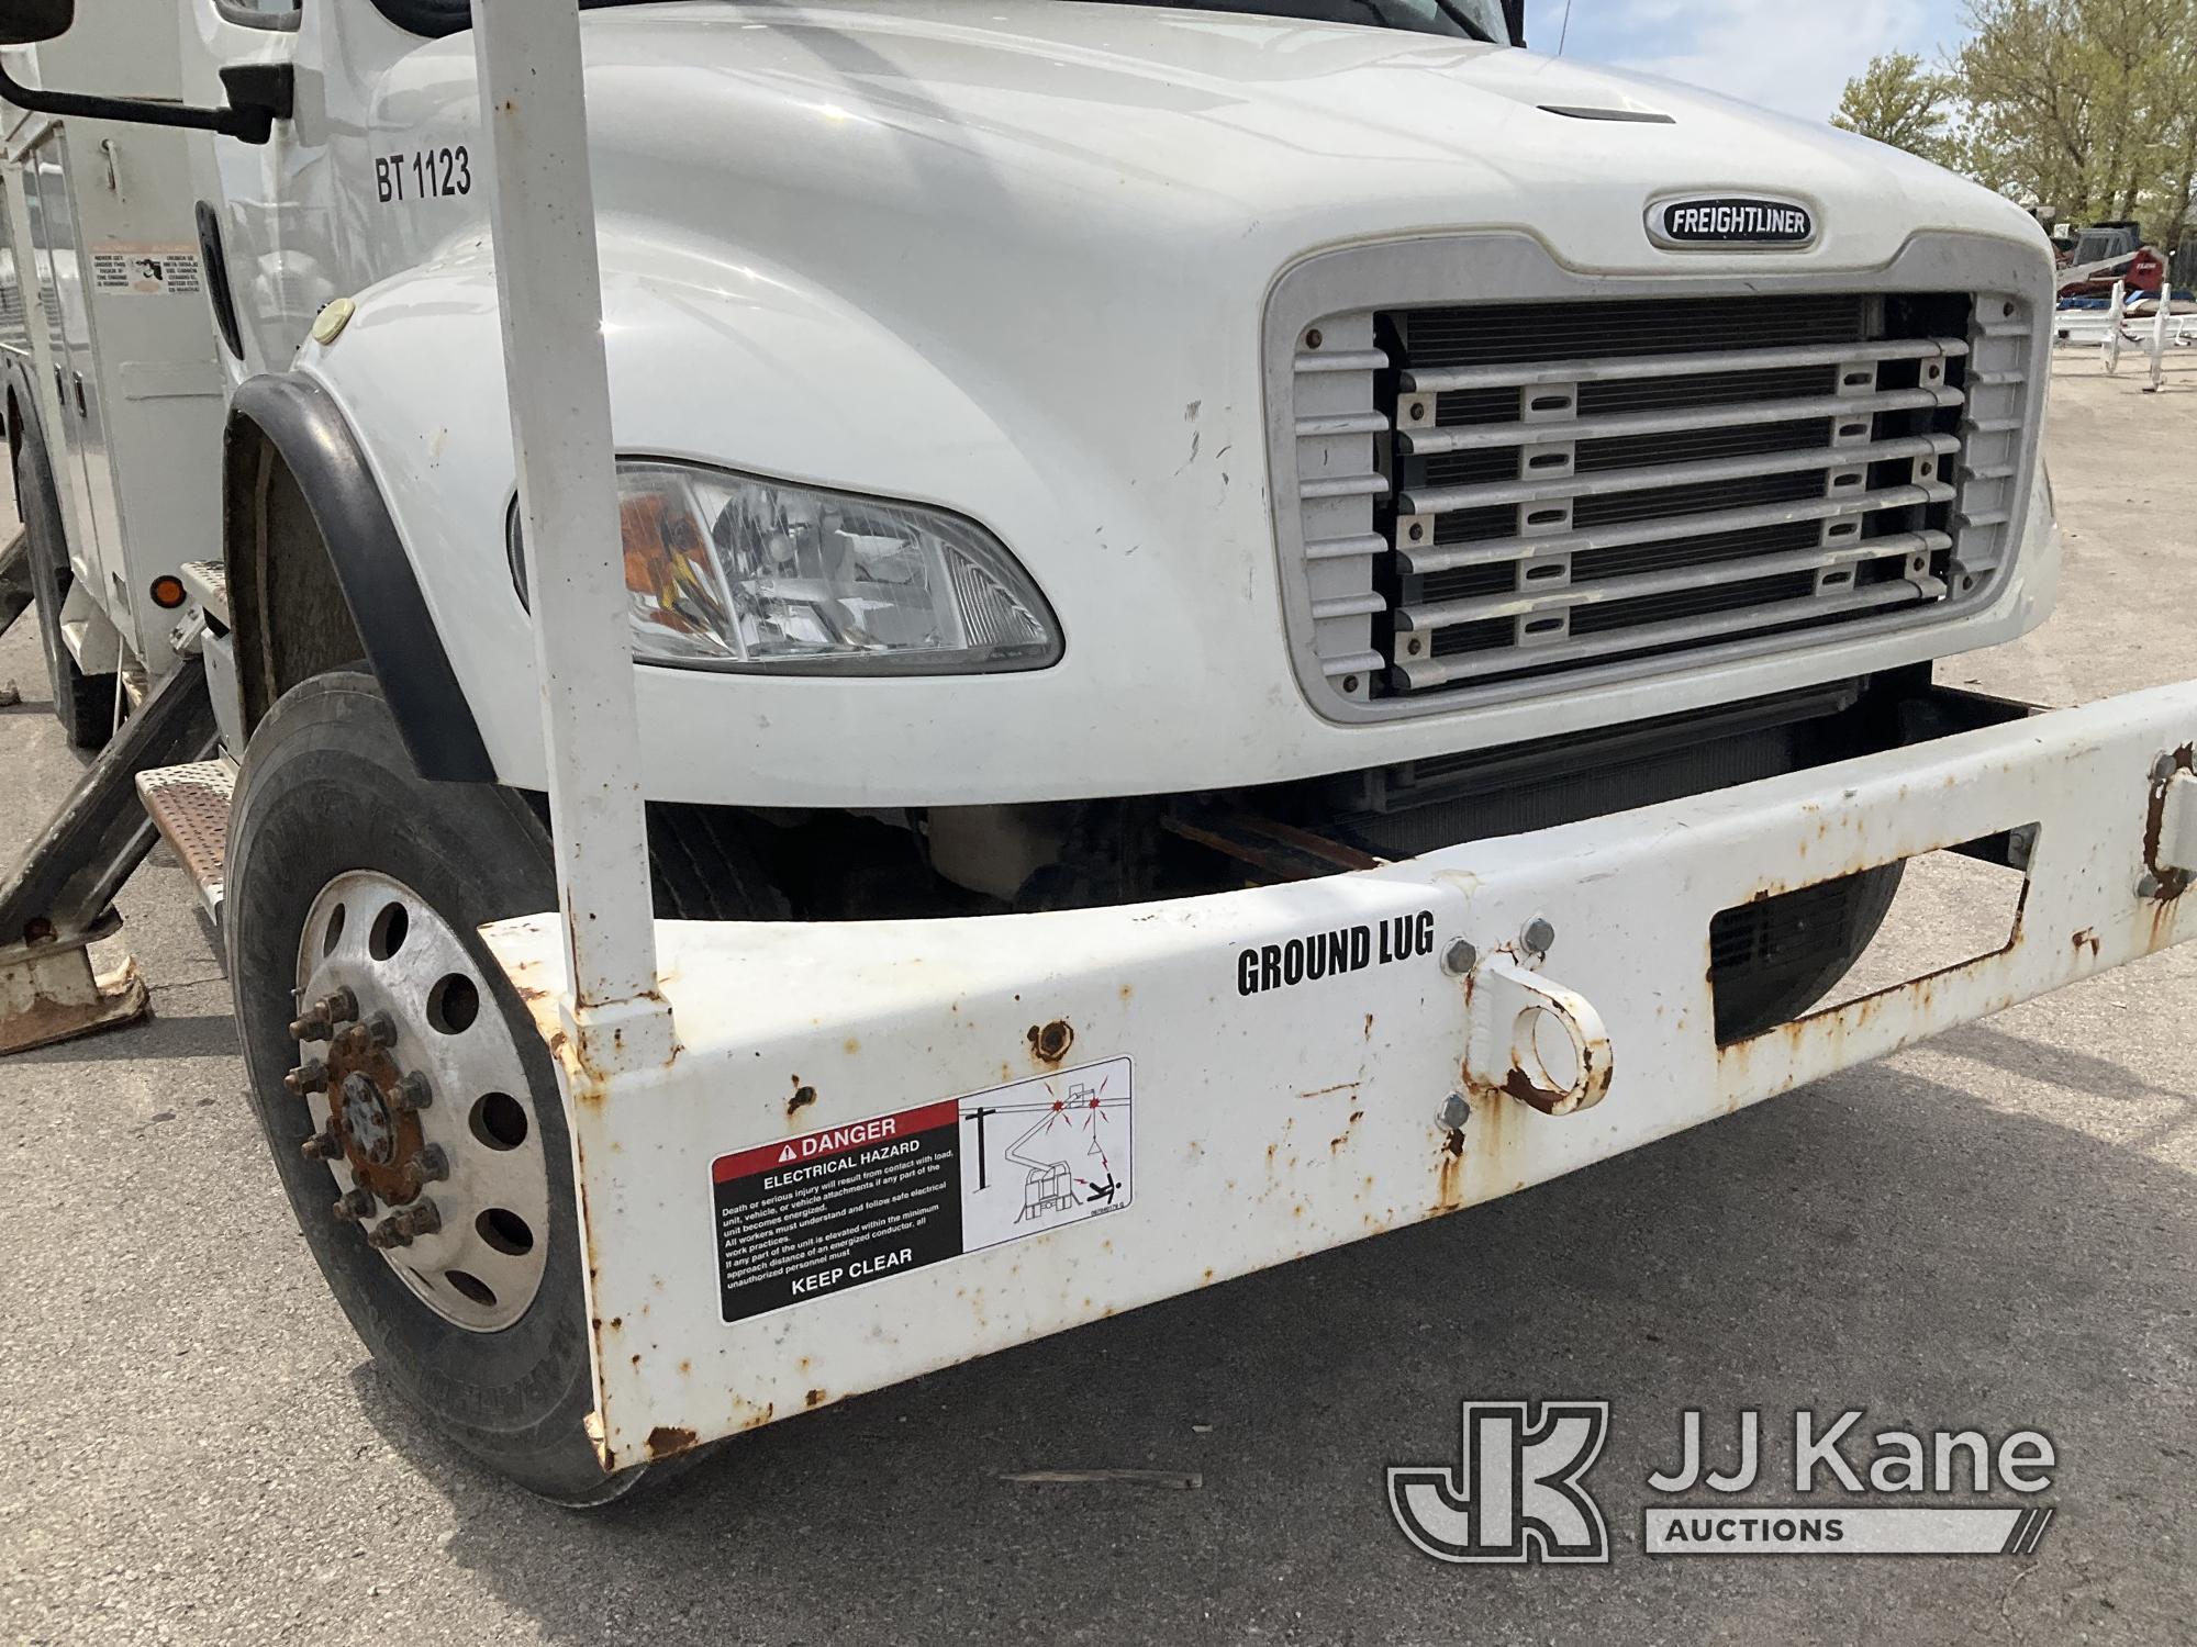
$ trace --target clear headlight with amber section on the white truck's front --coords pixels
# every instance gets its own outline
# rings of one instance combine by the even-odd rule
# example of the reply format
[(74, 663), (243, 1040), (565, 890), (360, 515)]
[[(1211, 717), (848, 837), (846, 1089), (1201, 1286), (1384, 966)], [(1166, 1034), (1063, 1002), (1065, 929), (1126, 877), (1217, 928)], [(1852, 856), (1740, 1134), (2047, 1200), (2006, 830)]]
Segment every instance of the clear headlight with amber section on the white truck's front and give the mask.
[[(780, 674), (1041, 670), (1061, 632), (1030, 575), (973, 520), (813, 485), (617, 466), (633, 654)], [(525, 600), (518, 512), (512, 578)]]

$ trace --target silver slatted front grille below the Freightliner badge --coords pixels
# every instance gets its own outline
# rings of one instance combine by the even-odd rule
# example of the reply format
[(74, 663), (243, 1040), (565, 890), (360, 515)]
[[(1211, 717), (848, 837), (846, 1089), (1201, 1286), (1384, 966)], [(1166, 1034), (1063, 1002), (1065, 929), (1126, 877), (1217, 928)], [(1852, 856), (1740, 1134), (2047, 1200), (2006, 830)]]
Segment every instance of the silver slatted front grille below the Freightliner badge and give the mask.
[(1329, 316), (1292, 373), (1320, 674), (1435, 707), (1958, 602), (2004, 553), (2026, 365), (1999, 294)]

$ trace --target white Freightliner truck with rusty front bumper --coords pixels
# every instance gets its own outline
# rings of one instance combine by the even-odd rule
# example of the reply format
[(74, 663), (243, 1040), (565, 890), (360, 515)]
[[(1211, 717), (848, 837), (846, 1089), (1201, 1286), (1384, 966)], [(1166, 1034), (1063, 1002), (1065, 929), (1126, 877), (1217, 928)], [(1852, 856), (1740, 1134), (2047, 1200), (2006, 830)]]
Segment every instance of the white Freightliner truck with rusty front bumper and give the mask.
[[(534, 1491), (2197, 933), (2197, 687), (1931, 683), (2056, 575), (2050, 246), (1944, 171), (1490, 0), (0, 20), (108, 740), (0, 1037), (138, 1010), (134, 780), (330, 1287)], [(1819, 1006), (1947, 848), (2012, 927)]]

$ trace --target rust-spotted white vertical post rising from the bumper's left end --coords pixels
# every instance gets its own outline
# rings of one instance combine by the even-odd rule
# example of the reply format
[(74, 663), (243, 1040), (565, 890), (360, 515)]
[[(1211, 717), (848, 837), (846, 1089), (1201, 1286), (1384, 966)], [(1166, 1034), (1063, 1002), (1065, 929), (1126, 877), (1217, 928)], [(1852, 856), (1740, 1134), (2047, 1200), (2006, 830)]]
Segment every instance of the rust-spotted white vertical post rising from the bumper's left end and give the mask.
[(584, 1067), (611, 1074), (670, 1056), (672, 1037), (657, 995), (580, 11), (472, 0), (472, 29), (567, 1017)]

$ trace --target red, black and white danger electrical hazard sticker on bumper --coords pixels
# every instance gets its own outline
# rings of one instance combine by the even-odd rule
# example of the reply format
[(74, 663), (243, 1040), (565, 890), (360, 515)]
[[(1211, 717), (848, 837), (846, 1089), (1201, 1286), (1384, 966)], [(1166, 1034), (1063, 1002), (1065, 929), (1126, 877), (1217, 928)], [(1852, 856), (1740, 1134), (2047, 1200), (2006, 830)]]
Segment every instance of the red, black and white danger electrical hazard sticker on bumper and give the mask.
[(718, 1155), (725, 1320), (1120, 1212), (1131, 1120), (1109, 1058)]

